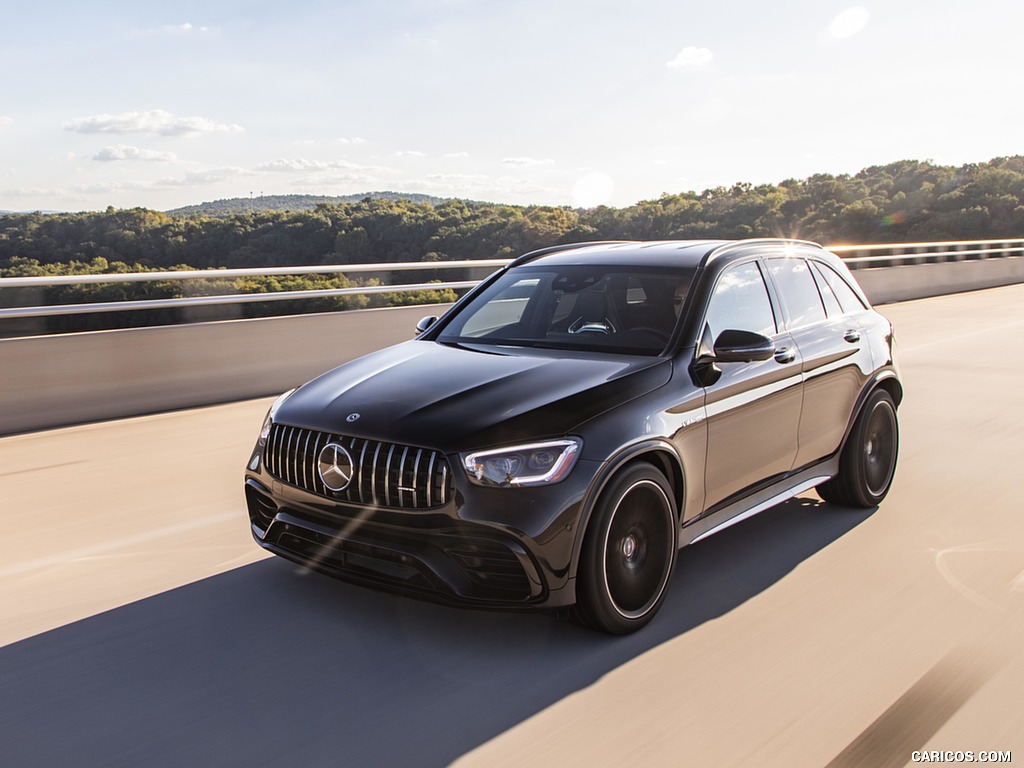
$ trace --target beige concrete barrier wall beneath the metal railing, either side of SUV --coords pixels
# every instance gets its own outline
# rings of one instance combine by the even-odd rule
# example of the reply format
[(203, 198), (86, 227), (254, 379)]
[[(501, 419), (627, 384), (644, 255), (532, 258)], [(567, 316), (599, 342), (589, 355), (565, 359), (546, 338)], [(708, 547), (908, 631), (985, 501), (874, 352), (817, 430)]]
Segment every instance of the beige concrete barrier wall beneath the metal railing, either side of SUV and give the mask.
[[(1024, 283), (1024, 258), (858, 269), (872, 302)], [(0, 434), (284, 391), (446, 305), (0, 339)]]

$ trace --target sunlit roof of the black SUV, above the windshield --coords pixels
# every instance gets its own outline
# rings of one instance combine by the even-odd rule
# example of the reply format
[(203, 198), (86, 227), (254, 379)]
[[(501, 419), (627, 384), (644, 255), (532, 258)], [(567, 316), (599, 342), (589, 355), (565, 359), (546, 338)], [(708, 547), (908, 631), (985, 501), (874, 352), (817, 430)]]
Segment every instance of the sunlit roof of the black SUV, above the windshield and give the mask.
[(756, 247), (759, 250), (775, 246), (805, 246), (820, 249), (816, 243), (804, 241), (760, 239), (760, 240), (671, 240), (671, 241), (615, 241), (598, 243), (575, 243), (566, 246), (554, 246), (527, 253), (516, 259), (514, 266), (520, 264), (543, 265), (595, 265), (630, 264), (652, 267), (692, 267), (696, 268), (712, 254), (730, 254), (748, 252)]

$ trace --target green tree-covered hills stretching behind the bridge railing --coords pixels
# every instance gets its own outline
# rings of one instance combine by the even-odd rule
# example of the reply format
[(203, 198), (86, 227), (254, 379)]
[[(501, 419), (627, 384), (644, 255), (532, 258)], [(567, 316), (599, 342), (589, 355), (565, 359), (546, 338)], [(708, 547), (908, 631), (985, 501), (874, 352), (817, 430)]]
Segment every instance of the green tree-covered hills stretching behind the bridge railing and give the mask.
[(0, 275), (478, 259), (586, 240), (764, 236), (825, 245), (1024, 238), (1024, 157), (962, 167), (902, 161), (591, 210), (365, 197), (217, 217), (8, 214)]

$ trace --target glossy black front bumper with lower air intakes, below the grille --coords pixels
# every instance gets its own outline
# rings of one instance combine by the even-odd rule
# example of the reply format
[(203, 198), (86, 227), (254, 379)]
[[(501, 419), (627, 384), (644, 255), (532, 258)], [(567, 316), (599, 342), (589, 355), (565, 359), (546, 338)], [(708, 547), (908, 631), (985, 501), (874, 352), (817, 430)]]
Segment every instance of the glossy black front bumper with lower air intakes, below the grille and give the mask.
[(254, 464), (245, 484), (253, 538), (304, 567), (452, 605), (575, 600), (569, 572), (588, 479), (580, 466), (539, 488), (480, 487), (457, 476), (453, 498), (427, 510), (326, 499)]

